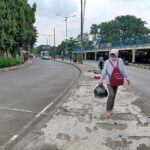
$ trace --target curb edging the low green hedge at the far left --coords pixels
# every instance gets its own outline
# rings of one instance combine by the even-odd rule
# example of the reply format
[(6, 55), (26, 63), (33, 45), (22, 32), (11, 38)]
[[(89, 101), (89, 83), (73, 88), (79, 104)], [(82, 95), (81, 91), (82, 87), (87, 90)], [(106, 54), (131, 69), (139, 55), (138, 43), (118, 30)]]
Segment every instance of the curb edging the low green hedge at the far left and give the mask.
[(8, 72), (8, 71), (15, 71), (15, 70), (18, 70), (20, 68), (25, 68), (25, 67), (31, 66), (32, 64), (33, 64), (33, 60), (29, 59), (27, 62), (25, 62), (22, 65), (17, 65), (17, 66), (2, 68), (2, 69), (0, 69), (0, 73), (1, 72)]

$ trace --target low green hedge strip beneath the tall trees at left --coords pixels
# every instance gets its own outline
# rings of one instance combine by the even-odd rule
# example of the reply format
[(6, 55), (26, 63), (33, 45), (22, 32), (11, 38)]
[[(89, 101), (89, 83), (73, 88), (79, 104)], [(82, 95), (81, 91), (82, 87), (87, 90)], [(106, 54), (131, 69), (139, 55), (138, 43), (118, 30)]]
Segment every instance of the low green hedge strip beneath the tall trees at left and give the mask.
[(0, 57), (0, 68), (16, 66), (23, 63), (24, 60), (21, 57), (18, 58)]

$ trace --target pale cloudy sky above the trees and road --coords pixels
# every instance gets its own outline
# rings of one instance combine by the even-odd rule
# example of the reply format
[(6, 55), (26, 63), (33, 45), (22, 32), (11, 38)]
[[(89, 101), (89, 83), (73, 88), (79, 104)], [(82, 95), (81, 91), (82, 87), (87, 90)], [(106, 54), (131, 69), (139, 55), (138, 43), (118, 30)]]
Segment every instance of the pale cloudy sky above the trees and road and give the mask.
[[(83, 0), (84, 1), (84, 0)], [(80, 2), (81, 0), (28, 0), (37, 4), (36, 23), (38, 42), (54, 45), (54, 28), (56, 45), (66, 38), (64, 17), (68, 18), (68, 38), (80, 34)], [(86, 0), (84, 32), (89, 32), (92, 24), (110, 21), (116, 16), (134, 15), (147, 22), (150, 28), (150, 0)]]

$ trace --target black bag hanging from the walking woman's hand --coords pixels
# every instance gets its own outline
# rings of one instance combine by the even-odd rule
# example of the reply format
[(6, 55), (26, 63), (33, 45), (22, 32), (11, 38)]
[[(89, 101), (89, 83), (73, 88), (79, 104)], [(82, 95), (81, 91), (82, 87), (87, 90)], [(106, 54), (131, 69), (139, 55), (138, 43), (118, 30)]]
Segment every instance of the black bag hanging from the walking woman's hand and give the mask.
[(108, 96), (108, 92), (105, 89), (105, 87), (103, 85), (98, 85), (95, 89), (94, 89), (94, 95), (95, 97), (107, 97)]

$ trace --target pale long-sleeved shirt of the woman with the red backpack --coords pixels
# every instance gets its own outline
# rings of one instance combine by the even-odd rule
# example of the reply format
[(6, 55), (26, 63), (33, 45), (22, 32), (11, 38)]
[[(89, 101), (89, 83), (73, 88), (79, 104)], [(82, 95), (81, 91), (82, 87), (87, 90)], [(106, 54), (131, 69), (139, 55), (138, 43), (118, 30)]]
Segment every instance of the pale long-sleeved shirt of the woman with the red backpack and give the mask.
[[(122, 60), (121, 58), (117, 58), (117, 59), (119, 59), (118, 67), (119, 67), (120, 72), (122, 73), (122, 75), (124, 76), (124, 78), (125, 78), (126, 80), (128, 80), (128, 75), (127, 75), (127, 73), (126, 73), (123, 60)], [(117, 65), (117, 60), (115, 60), (115, 61), (110, 60), (110, 61), (112, 62), (112, 64), (113, 64), (114, 66)], [(101, 79), (100, 79), (101, 82), (102, 82), (104, 79), (106, 79), (106, 83), (109, 84), (109, 78), (110, 78), (109, 75), (111, 76), (111, 74), (112, 74), (112, 72), (113, 72), (113, 69), (114, 69), (114, 68), (113, 68), (113, 66), (110, 64), (109, 60), (106, 60), (105, 63), (104, 63), (104, 68), (103, 68), (103, 70), (102, 70), (102, 74), (101, 74)]]

